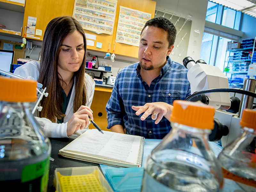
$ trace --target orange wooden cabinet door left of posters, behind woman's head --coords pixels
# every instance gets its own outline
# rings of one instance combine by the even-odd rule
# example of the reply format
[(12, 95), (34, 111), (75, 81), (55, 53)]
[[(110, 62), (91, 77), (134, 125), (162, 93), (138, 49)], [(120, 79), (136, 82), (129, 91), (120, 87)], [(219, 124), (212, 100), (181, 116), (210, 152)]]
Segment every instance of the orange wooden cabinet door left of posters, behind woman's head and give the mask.
[(26, 0), (22, 36), (24, 36), (25, 27), (27, 28), (28, 16), (36, 17), (36, 29), (43, 31), (42, 36), (26, 37), (33, 40), (43, 40), (44, 31), (49, 23), (55, 17), (73, 14), (74, 0)]

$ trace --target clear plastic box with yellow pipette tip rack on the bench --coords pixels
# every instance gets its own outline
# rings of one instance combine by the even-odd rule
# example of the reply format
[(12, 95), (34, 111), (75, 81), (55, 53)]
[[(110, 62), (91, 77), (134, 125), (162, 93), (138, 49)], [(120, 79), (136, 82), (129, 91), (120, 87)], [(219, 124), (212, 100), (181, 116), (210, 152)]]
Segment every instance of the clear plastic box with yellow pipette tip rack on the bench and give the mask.
[(57, 192), (113, 192), (97, 166), (56, 168), (53, 185)]

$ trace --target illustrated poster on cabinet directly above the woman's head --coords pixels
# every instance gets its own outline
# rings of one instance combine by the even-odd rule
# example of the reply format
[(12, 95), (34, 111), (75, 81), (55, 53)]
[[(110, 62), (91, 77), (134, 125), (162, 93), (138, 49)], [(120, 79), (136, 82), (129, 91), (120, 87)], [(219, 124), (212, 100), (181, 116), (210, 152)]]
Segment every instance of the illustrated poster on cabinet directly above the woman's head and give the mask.
[(84, 29), (113, 35), (117, 0), (75, 0), (73, 17)]

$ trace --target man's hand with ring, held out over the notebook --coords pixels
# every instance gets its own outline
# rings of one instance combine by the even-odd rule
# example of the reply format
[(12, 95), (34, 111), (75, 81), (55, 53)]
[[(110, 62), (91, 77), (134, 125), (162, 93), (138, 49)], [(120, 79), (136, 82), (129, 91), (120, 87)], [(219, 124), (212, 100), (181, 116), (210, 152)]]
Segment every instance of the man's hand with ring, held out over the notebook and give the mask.
[(158, 124), (163, 116), (170, 121), (172, 108), (172, 105), (164, 102), (146, 103), (144, 106), (132, 106), (132, 109), (136, 111), (136, 115), (140, 115), (144, 112), (144, 114), (140, 117), (142, 121), (152, 114), (151, 118), (156, 120), (155, 124)]

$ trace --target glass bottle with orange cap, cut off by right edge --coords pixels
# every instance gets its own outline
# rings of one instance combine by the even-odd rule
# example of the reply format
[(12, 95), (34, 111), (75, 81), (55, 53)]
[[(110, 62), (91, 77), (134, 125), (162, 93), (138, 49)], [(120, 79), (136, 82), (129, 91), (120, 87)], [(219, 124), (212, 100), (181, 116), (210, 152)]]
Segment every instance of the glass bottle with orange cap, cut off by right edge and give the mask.
[(256, 191), (256, 111), (244, 109), (240, 136), (218, 156), (224, 178), (254, 187)]

